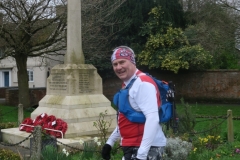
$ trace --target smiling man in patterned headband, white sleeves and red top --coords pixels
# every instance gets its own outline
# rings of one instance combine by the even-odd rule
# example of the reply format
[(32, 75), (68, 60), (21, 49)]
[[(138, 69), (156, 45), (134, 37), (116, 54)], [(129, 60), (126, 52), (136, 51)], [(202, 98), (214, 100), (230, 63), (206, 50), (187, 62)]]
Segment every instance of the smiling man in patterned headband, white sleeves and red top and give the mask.
[[(127, 46), (115, 48), (111, 62), (115, 74), (123, 81), (122, 90), (124, 87), (129, 89), (125, 102), (115, 105), (120, 104), (118, 108), (126, 108), (130, 105), (136, 112), (142, 112), (146, 120), (145, 123), (131, 122), (120, 109), (118, 125), (103, 146), (103, 159), (110, 159), (112, 146), (121, 138), (123, 159), (161, 160), (166, 137), (159, 124), (158, 106), (161, 100), (155, 82), (136, 68), (134, 52)], [(121, 96), (123, 92), (118, 94)]]

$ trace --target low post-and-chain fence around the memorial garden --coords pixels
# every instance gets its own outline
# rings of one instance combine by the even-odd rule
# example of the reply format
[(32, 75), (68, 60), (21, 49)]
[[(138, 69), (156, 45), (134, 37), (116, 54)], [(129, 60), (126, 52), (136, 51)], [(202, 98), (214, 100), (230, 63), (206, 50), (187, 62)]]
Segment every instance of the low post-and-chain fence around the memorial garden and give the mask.
[[(6, 113), (5, 113), (6, 114)], [(192, 134), (200, 134), (203, 132), (208, 132), (211, 129), (214, 129), (216, 127), (218, 127), (219, 125), (221, 125), (223, 122), (225, 122), (227, 120), (227, 130), (228, 130), (228, 141), (229, 142), (233, 142), (234, 141), (234, 136), (233, 136), (233, 116), (232, 116), (232, 111), (228, 110), (227, 111), (227, 116), (222, 117), (223, 120), (216, 126), (214, 126), (213, 128), (210, 128), (209, 130), (205, 130), (205, 131), (201, 131), (201, 132), (195, 132)], [(23, 106), (21, 104), (19, 104), (18, 106), (18, 123), (20, 125), (20, 122), (23, 121)], [(0, 132), (1, 134), (1, 132)], [(44, 141), (45, 139), (43, 139), (43, 135), (45, 135), (45, 137), (47, 137), (47, 142)], [(1, 136), (1, 135), (0, 135)], [(67, 148), (70, 148), (72, 150), (76, 150), (76, 151), (81, 151), (81, 152), (99, 152), (99, 151), (93, 151), (93, 150), (84, 150), (84, 149), (80, 149), (77, 147), (73, 147), (67, 144), (64, 144), (60, 141), (58, 141), (55, 137), (52, 137), (50, 135), (47, 135), (45, 132), (43, 132), (42, 127), (41, 126), (34, 126), (34, 130), (32, 133), (29, 134), (28, 137), (26, 137), (25, 139), (23, 139), (22, 141), (16, 143), (16, 144), (10, 144), (10, 143), (6, 143), (6, 142), (0, 142), (1, 145), (3, 146), (8, 146), (8, 147), (15, 147), (15, 146), (19, 146), (21, 143), (27, 141), (30, 139), (30, 148), (29, 148), (29, 152), (30, 152), (30, 159), (31, 160), (40, 160), (41, 158), (41, 153), (42, 150), (44, 149), (44, 147), (48, 146), (48, 145), (52, 145), (54, 148), (57, 149), (57, 144), (61, 144)]]

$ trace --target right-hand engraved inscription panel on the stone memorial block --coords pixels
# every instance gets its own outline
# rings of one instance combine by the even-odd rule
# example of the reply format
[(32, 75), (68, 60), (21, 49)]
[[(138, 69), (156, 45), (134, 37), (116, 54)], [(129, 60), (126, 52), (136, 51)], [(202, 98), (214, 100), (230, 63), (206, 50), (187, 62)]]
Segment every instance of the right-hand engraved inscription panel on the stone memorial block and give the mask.
[(79, 73), (79, 93), (91, 93), (89, 73)]

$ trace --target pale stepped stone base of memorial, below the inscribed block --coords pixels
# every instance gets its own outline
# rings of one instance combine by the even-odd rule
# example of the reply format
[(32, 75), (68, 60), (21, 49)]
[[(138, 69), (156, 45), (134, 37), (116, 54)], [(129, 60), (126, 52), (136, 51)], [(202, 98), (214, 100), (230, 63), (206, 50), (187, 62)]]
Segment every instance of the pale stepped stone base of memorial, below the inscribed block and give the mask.
[[(53, 99), (55, 103), (53, 103)], [(32, 113), (31, 118), (46, 113), (67, 122), (68, 129), (64, 138), (84, 135), (97, 135), (99, 131), (93, 123), (99, 120), (100, 113), (105, 113), (105, 121), (112, 122), (109, 131), (116, 127), (116, 111), (103, 95), (56, 96), (46, 95)]]

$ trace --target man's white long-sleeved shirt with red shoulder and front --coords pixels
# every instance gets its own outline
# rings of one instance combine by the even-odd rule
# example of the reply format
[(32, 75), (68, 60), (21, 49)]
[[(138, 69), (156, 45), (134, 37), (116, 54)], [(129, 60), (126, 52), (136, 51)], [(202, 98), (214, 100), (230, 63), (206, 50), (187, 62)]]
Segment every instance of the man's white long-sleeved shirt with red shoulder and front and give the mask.
[[(138, 159), (145, 160), (147, 159), (148, 151), (151, 146), (166, 145), (166, 137), (162, 131), (162, 127), (159, 124), (159, 104), (157, 98), (159, 91), (153, 84), (151, 78), (142, 74), (143, 73), (141, 71), (137, 70), (127, 82), (124, 82), (124, 84), (127, 86), (130, 81), (137, 76), (137, 79), (129, 90), (129, 103), (132, 108), (134, 108), (136, 111), (141, 111), (146, 117), (145, 125), (143, 124), (143, 135), (141, 137), (142, 139), (137, 154)], [(119, 118), (121, 118), (121, 115)], [(131, 129), (124, 127), (125, 123), (121, 124), (119, 119), (118, 124), (119, 125), (109, 137), (107, 144), (113, 146), (114, 143), (121, 138), (122, 146), (136, 146), (136, 144), (132, 143), (131, 140), (125, 138), (126, 133), (128, 133), (129, 137), (131, 137), (131, 132), (135, 131), (135, 129), (132, 130), (133, 127)], [(135, 123), (135, 125), (137, 124)], [(133, 145), (131, 145), (131, 143)]]

